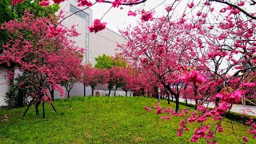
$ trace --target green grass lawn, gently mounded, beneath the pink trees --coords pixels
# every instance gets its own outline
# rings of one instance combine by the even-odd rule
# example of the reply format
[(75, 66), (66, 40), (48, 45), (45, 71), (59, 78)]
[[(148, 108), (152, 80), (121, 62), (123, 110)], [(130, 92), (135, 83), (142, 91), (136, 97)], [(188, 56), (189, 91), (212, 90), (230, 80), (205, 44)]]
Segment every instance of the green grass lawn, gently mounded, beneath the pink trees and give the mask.
[[(162, 101), (162, 106), (167, 107), (167, 102)], [(162, 120), (160, 115), (142, 109), (155, 102), (139, 97), (69, 98), (54, 102), (57, 113), (46, 104), (46, 118), (42, 118), (42, 109), (39, 116), (35, 115), (34, 106), (26, 117), (22, 117), (26, 107), (0, 109), (0, 118), (11, 114), (8, 121), (0, 122), (0, 143), (190, 143), (193, 128), (183, 137), (176, 137), (180, 117)], [(170, 106), (174, 108), (174, 103)], [(230, 120), (225, 119), (223, 125), (225, 131), (218, 134), (218, 143), (239, 143), (242, 135), (249, 137), (248, 143), (256, 143), (247, 133), (249, 126), (235, 122), (234, 136), (230, 135)]]

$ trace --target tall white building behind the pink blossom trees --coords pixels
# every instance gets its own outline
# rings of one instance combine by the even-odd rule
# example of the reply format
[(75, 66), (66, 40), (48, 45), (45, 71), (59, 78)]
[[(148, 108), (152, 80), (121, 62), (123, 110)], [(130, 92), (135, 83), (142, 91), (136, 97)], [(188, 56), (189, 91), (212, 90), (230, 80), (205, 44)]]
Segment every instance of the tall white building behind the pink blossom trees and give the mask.
[[(61, 10), (66, 12), (66, 15), (74, 14), (79, 11), (78, 13), (70, 16), (70, 18), (66, 18), (62, 22), (62, 25), (66, 27), (71, 27), (74, 25), (76, 26), (76, 29), (80, 35), (78, 38), (74, 38), (74, 41), (77, 42), (77, 46), (86, 48), (87, 50), (86, 54), (84, 55), (83, 62), (94, 65), (95, 58), (98, 57), (98, 55), (106, 54), (114, 56), (118, 52), (116, 50), (117, 42), (125, 42), (125, 39), (120, 34), (117, 34), (107, 28), (99, 31), (96, 34), (90, 33), (87, 27), (93, 24), (92, 10), (86, 9), (86, 7), (77, 6), (77, 2), (74, 0), (62, 2), (60, 7)], [(84, 90), (82, 83), (77, 83), (74, 88), (70, 90), (70, 96), (78, 96), (83, 94)], [(108, 94), (108, 92), (106, 92), (106, 94)], [(86, 87), (86, 95), (91, 95), (90, 87)], [(111, 93), (111, 95), (114, 94)], [(58, 92), (55, 94), (55, 96), (59, 97)]]

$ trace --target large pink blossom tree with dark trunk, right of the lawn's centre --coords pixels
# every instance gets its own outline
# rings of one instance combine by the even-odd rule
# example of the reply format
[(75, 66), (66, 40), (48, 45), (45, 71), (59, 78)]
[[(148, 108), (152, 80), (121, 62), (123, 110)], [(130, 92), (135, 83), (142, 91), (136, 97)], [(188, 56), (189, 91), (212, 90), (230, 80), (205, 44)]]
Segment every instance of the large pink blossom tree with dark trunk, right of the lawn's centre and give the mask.
[(192, 24), (169, 22), (162, 17), (155, 18), (153, 23), (138, 23), (138, 26), (128, 27), (121, 33), (128, 41), (120, 46), (123, 55), (134, 67), (154, 75), (158, 83), (174, 95), (178, 110), (181, 66), (204, 66), (198, 30)]

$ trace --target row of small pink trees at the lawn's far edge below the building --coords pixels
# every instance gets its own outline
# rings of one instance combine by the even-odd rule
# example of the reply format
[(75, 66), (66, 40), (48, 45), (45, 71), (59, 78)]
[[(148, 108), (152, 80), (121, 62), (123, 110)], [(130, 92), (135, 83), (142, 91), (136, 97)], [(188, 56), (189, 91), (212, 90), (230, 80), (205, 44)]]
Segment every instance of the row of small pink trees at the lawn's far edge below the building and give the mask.
[[(96, 64), (96, 66), (98, 65)], [(108, 67), (109, 65), (106, 66)], [(145, 80), (143, 81), (143, 79)], [(83, 65), (81, 78), (81, 82), (84, 87), (91, 87), (92, 95), (94, 95), (94, 89), (96, 86), (103, 85), (108, 87), (109, 96), (113, 89), (115, 96), (118, 88), (125, 90), (127, 96), (128, 91), (136, 91), (145, 88), (148, 83), (146, 80), (147, 79), (143, 78), (140, 71), (123, 64), (121, 66), (111, 66), (108, 69), (102, 67), (99, 69), (90, 65)]]

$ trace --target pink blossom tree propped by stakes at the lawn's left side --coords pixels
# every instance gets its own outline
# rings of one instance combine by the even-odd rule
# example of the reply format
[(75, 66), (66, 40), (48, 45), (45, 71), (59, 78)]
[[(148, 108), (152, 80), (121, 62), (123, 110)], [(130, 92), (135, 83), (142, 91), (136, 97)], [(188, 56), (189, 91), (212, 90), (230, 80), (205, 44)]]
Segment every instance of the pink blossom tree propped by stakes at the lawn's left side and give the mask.
[[(63, 75), (62, 69), (57, 69), (65, 65), (56, 62), (55, 58), (60, 58), (64, 52), (73, 56), (79, 53), (78, 47), (73, 46), (73, 42), (69, 39), (78, 35), (74, 28), (71, 30), (64, 27), (54, 28), (51, 26), (52, 22), (54, 18), (34, 18), (33, 14), (27, 12), (22, 16), (21, 21), (13, 20), (1, 25), (1, 29), (7, 31), (10, 41), (2, 46), (0, 63), (6, 63), (6, 66), (14, 63), (15, 69), (29, 76), (27, 80), (31, 85), (27, 86), (27, 89), (30, 89), (27, 96), (32, 98), (30, 105), (35, 103), (36, 114), (41, 102), (43, 106), (44, 102), (51, 103), (49, 85), (63, 94), (58, 82), (60, 78), (68, 78), (68, 75)], [(44, 111), (43, 117), (45, 117)]]

